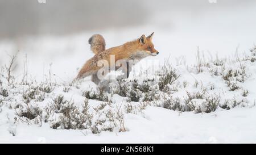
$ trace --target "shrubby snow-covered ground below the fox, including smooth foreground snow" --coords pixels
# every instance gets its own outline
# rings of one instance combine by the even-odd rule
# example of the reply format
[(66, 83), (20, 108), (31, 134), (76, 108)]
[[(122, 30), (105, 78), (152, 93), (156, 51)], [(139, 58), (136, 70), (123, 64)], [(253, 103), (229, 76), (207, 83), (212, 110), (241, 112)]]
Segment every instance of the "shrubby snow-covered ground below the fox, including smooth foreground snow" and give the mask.
[(255, 53), (166, 65), (109, 93), (88, 80), (3, 82), (1, 143), (255, 143)]

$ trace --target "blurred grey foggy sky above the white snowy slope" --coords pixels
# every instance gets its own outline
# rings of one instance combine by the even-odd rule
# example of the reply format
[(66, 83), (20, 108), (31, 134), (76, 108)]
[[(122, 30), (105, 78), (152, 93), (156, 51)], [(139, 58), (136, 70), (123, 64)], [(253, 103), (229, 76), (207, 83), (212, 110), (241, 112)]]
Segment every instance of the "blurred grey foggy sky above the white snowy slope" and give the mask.
[[(211, 3), (216, 1), (216, 3)], [(0, 0), (0, 39), (162, 24), (179, 16), (197, 18), (205, 12), (234, 11), (254, 0)], [(155, 22), (151, 16), (163, 12)], [(165, 13), (164, 13), (165, 12)], [(174, 20), (175, 22), (175, 20)]]

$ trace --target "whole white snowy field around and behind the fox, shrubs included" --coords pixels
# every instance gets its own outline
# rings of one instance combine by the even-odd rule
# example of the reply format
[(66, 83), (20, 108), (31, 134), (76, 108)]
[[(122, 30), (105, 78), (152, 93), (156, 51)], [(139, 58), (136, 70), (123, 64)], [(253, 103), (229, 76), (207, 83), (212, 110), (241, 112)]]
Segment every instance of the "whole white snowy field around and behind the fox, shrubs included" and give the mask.
[[(209, 10), (193, 22), (185, 12), (170, 17), (175, 24), (158, 12), (138, 27), (1, 40), (0, 143), (255, 143), (254, 8)], [(152, 31), (159, 55), (128, 79), (109, 91), (89, 77), (72, 82), (93, 57), (94, 33), (110, 48)]]

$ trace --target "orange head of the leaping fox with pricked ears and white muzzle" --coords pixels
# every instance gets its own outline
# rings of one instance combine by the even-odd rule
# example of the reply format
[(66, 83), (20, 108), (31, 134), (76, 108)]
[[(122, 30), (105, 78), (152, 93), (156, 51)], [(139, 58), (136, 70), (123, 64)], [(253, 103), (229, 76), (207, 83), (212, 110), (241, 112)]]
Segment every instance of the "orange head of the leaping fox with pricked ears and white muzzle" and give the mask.
[(142, 35), (139, 38), (139, 49), (141, 51), (146, 52), (148, 55), (156, 56), (159, 54), (158, 51), (154, 48), (154, 44), (152, 43), (152, 37), (154, 35), (154, 32), (151, 33), (149, 36)]

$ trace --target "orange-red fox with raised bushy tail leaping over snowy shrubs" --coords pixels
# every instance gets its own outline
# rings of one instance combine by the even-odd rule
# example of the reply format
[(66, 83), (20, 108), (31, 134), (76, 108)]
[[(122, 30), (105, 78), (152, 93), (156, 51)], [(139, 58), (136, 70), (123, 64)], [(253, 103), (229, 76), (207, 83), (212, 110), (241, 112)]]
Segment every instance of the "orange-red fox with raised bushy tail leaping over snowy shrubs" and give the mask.
[[(129, 73), (131, 72), (131, 64), (128, 63), (129, 60), (141, 60), (147, 56), (156, 56), (158, 55), (158, 51), (154, 48), (152, 43), (152, 36), (154, 32), (149, 36), (142, 35), (139, 39), (134, 41), (127, 42), (118, 47), (113, 47), (109, 49), (105, 49), (105, 40), (101, 35), (93, 35), (89, 39), (90, 49), (95, 55), (90, 58), (84, 66), (82, 66), (79, 74), (76, 79), (81, 79), (87, 76), (92, 76), (92, 81), (96, 84), (100, 82), (98, 78), (98, 70), (102, 68), (102, 66), (98, 66), (97, 63), (100, 60), (106, 60), (109, 64), (111, 56), (114, 55), (114, 61), (124, 60), (126, 61), (126, 67), (123, 68), (122, 72), (125, 73), (125, 78), (129, 77)], [(115, 67), (115, 70), (118, 68)], [(110, 66), (109, 66), (110, 70)]]

